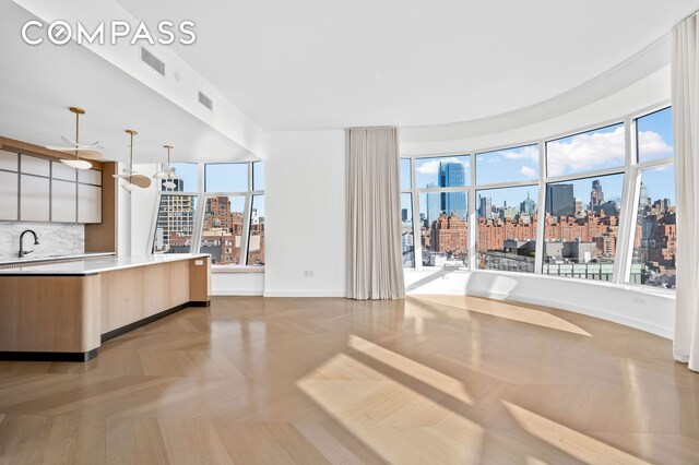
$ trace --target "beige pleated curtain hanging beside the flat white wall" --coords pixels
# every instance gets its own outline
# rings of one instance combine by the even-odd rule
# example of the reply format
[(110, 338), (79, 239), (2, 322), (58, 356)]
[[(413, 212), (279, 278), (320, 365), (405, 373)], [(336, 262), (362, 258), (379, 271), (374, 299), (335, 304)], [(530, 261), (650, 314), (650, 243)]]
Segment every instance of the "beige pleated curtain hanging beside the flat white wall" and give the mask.
[(347, 297), (405, 296), (398, 130), (352, 128), (347, 148)]

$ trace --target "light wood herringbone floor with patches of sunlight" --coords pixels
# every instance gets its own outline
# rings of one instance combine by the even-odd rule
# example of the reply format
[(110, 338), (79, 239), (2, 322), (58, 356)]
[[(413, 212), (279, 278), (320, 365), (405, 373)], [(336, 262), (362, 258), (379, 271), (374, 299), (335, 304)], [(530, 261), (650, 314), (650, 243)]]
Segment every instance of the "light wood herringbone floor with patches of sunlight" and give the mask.
[(698, 464), (699, 373), (530, 306), (214, 298), (87, 363), (0, 362), (0, 463)]

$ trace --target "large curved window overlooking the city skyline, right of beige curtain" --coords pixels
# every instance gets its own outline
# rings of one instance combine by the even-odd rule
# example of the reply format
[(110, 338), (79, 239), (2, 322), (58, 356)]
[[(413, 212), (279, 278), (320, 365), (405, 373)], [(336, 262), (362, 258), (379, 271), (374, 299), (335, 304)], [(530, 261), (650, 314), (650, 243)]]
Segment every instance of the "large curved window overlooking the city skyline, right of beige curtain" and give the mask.
[(520, 146), (403, 157), (403, 264), (674, 288), (672, 145), (663, 108)]

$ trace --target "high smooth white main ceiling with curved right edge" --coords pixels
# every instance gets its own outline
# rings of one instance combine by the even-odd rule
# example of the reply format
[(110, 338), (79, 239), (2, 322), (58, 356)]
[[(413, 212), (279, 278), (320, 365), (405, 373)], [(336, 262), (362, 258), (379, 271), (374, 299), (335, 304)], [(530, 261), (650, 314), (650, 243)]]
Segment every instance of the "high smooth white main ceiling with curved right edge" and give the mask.
[(511, 112), (612, 69), (699, 0), (118, 0), (192, 20), (175, 51), (262, 129), (423, 126)]

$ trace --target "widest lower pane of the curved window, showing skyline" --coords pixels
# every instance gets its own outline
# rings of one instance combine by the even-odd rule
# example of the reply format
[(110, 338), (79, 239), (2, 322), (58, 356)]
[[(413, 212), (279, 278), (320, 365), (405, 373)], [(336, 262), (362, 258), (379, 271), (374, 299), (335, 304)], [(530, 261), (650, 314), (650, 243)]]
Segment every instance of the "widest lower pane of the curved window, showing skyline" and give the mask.
[(612, 281), (624, 175), (546, 186), (544, 274)]

